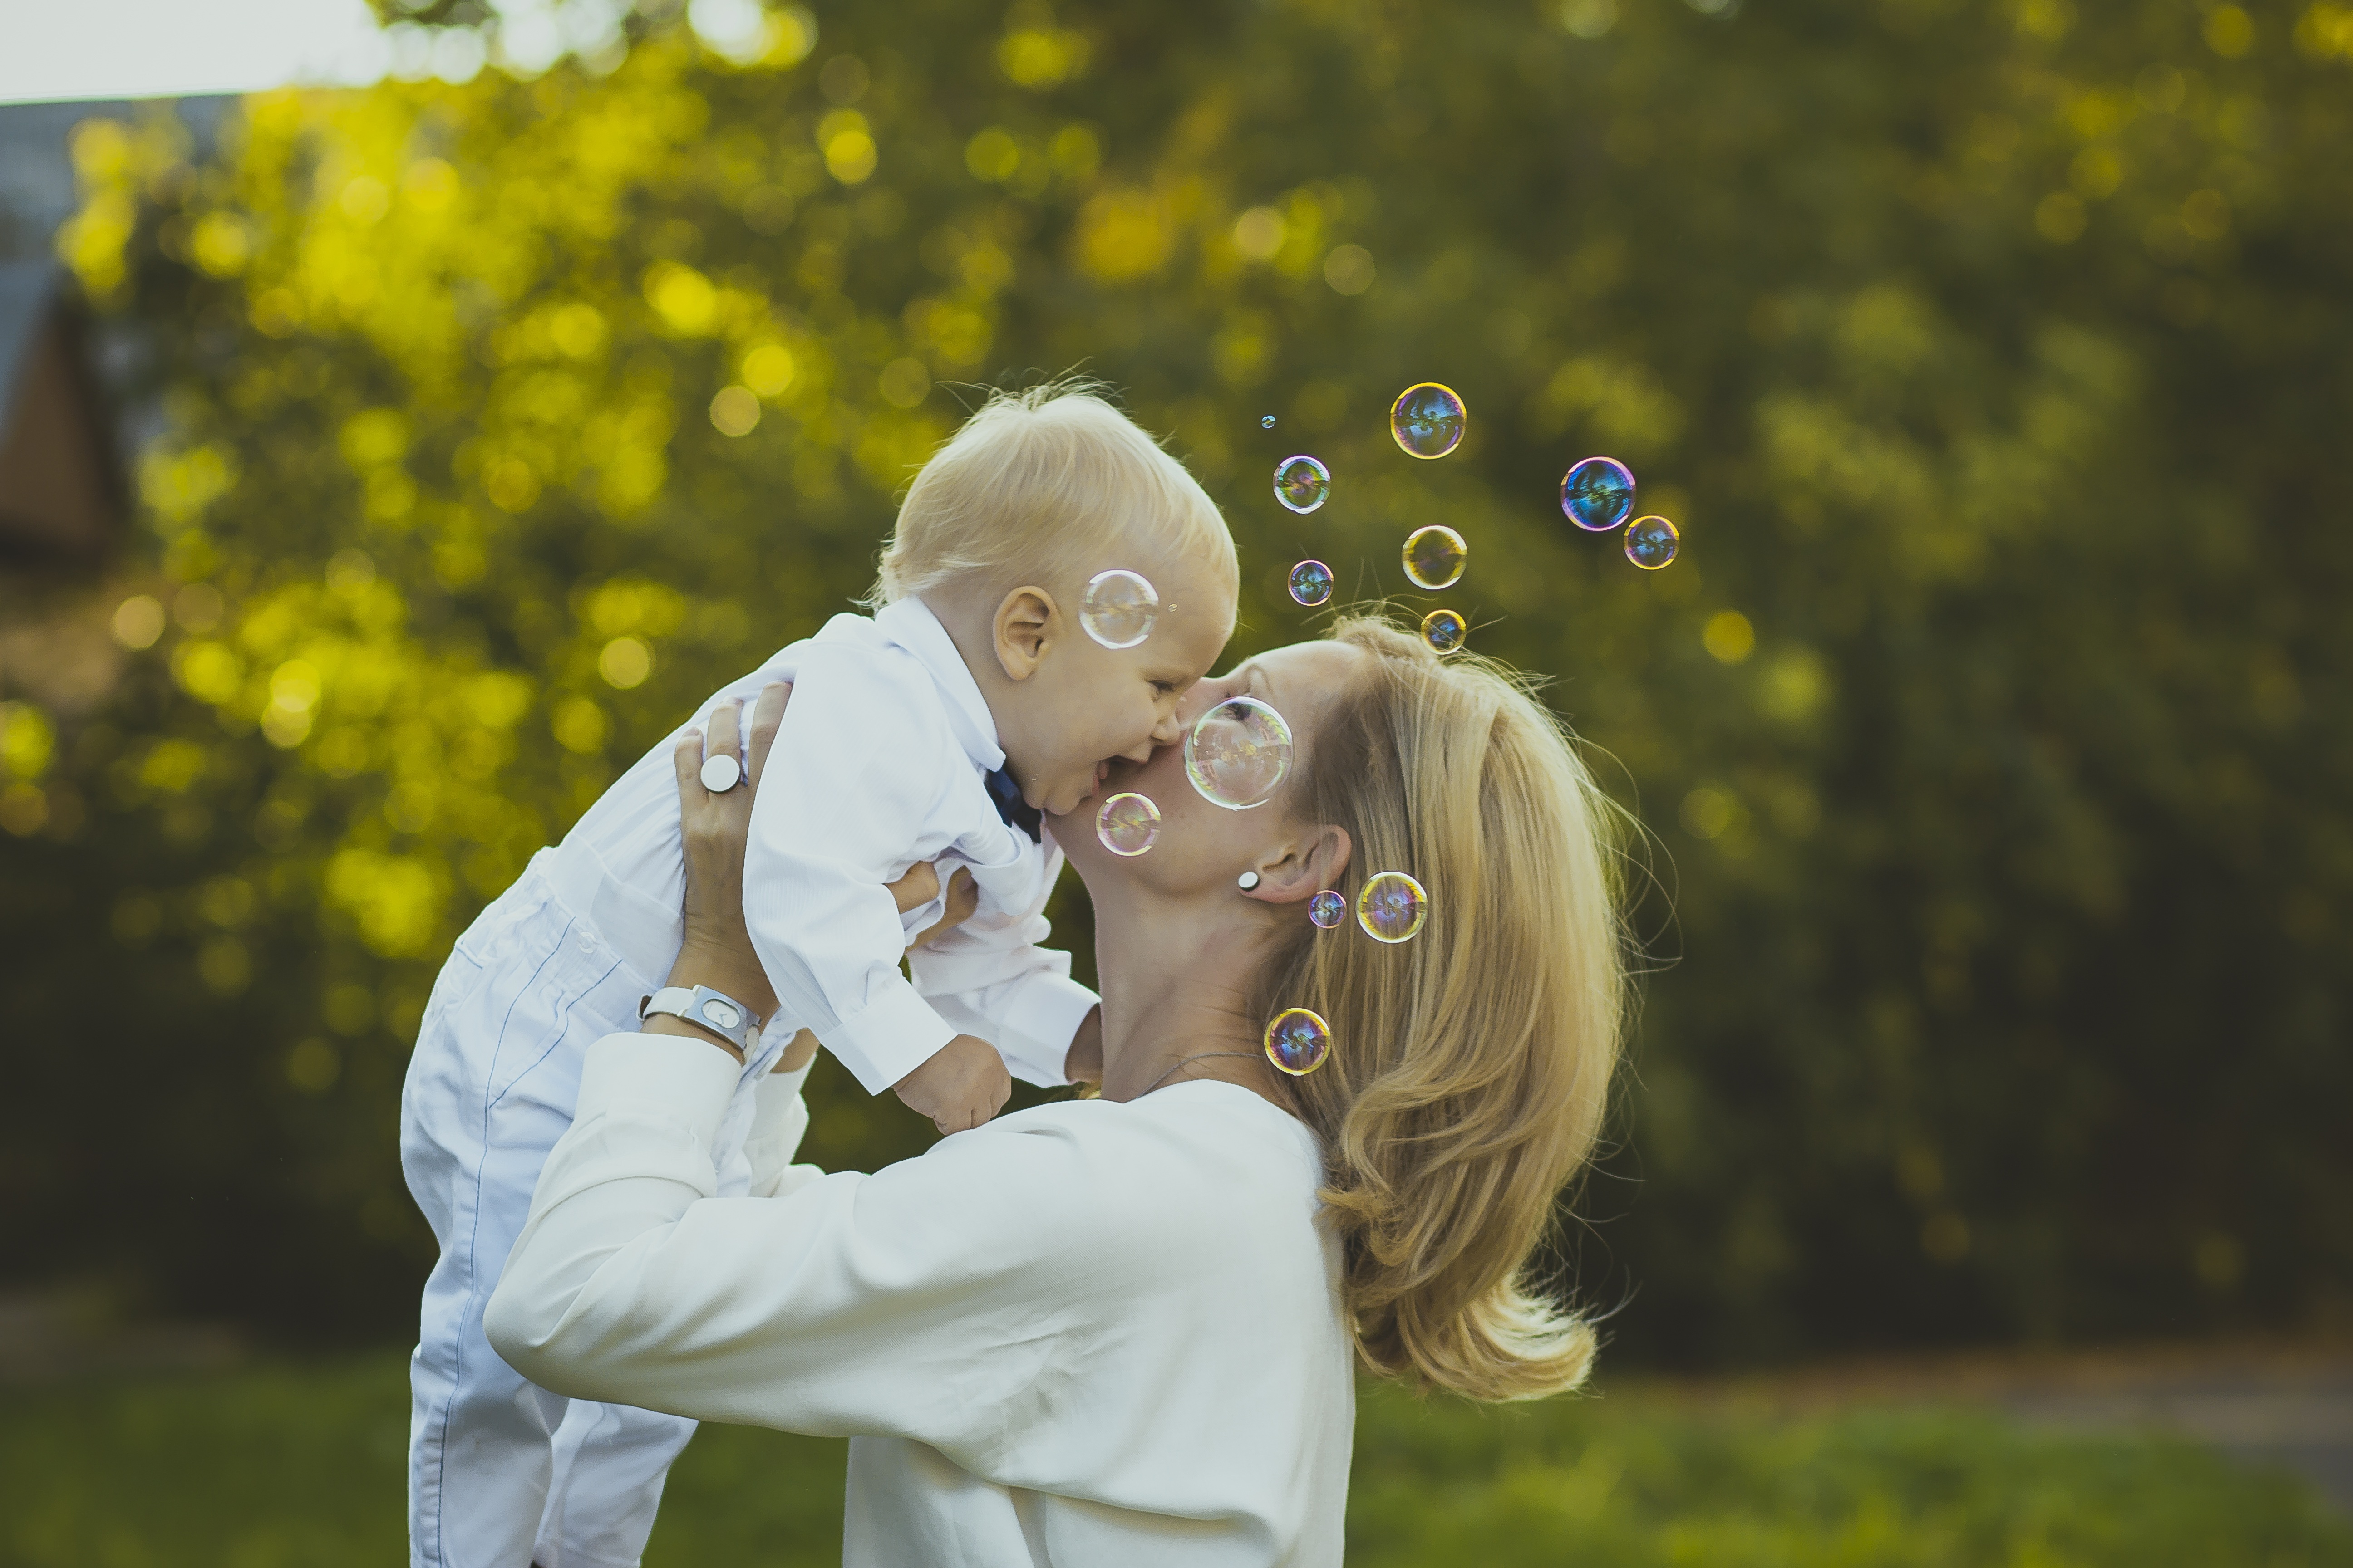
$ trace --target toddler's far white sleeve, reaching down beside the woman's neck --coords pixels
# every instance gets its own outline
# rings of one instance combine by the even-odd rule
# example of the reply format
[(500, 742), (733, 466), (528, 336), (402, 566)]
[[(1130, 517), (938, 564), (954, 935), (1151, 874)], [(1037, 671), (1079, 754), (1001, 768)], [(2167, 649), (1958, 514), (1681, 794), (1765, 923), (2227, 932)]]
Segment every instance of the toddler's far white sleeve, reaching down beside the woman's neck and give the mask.
[(1071, 978), (1071, 954), (1040, 947), (1049, 933), (1045, 903), (1061, 875), (1061, 851), (1047, 849), (1038, 900), (1019, 914), (974, 917), (915, 947), (906, 966), (915, 994), (960, 1034), (979, 1034), (1024, 1084), (1068, 1084), (1061, 1067), (1071, 1037), (1096, 994)]

